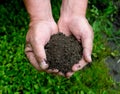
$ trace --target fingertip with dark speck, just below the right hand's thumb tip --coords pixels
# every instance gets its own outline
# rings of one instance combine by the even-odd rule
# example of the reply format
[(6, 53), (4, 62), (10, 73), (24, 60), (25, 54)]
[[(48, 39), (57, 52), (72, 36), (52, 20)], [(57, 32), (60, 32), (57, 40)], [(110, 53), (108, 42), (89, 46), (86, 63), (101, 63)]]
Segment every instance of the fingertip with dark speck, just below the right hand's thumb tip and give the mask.
[(84, 68), (88, 63), (84, 60), (84, 58), (82, 58), (78, 64), (74, 64), (72, 67), (73, 71), (78, 71), (81, 70), (82, 68)]

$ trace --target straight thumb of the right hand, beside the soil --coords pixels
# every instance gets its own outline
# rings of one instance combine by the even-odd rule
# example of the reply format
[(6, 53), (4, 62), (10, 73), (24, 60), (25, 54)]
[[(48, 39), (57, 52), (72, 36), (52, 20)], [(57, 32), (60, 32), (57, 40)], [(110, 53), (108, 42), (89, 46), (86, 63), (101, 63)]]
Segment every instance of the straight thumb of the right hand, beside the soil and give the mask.
[(87, 62), (92, 62), (91, 53), (93, 47), (93, 35), (84, 35), (81, 37), (83, 46), (83, 57)]

